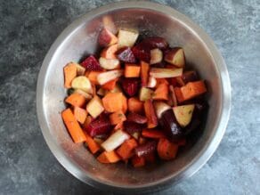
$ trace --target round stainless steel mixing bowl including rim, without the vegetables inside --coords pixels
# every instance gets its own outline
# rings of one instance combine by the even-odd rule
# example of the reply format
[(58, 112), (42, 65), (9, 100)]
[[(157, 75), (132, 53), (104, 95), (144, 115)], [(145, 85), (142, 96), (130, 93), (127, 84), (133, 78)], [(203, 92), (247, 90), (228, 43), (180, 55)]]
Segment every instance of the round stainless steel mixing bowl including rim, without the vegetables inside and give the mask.
[[(110, 15), (120, 28), (138, 28), (140, 34), (167, 38), (182, 46), (186, 61), (207, 80), (208, 110), (203, 133), (178, 157), (160, 165), (132, 168), (102, 165), (83, 144), (72, 142), (61, 120), (65, 108), (62, 68), (96, 51), (102, 17)], [(72, 175), (99, 189), (152, 191), (193, 175), (212, 156), (221, 141), (231, 109), (231, 86), (221, 54), (207, 34), (180, 12), (150, 2), (108, 4), (75, 20), (56, 39), (45, 56), (37, 80), (37, 117), (49, 148)]]

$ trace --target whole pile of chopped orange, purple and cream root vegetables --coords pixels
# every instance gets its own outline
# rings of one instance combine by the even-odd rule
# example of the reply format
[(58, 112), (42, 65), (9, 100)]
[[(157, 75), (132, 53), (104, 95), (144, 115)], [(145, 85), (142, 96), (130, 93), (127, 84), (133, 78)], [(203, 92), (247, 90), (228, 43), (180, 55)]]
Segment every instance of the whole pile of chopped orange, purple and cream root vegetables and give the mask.
[(68, 105), (61, 117), (76, 143), (85, 142), (101, 163), (134, 167), (170, 160), (198, 129), (206, 85), (185, 71), (184, 50), (163, 37), (103, 28), (99, 55), (63, 69)]

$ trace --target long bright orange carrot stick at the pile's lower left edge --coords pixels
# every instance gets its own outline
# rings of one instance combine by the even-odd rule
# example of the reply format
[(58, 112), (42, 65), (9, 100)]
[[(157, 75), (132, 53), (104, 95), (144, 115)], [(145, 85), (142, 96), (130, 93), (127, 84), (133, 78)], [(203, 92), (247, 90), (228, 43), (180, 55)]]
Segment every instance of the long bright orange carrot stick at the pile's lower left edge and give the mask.
[(74, 142), (85, 142), (85, 134), (70, 109), (63, 110), (61, 117)]

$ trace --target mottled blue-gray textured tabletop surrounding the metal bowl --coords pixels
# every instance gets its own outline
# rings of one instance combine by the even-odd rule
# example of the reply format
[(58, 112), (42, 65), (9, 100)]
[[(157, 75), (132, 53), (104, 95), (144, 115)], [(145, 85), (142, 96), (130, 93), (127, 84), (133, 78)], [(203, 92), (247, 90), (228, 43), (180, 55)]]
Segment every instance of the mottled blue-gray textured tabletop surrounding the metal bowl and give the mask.
[[(0, 1), (0, 194), (108, 194), (64, 170), (37, 124), (36, 84), (54, 39), (77, 16), (111, 1)], [(196, 175), (155, 194), (260, 193), (260, 2), (157, 1), (204, 28), (232, 80), (232, 115)]]

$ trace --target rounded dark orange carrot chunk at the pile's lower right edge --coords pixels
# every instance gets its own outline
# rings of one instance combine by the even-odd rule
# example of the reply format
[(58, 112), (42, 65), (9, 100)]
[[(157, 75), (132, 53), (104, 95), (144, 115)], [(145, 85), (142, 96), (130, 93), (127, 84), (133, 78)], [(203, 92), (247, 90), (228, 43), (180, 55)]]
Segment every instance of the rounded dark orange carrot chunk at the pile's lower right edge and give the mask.
[(176, 157), (178, 145), (169, 142), (166, 138), (160, 138), (157, 146), (158, 156), (162, 159), (173, 159)]

